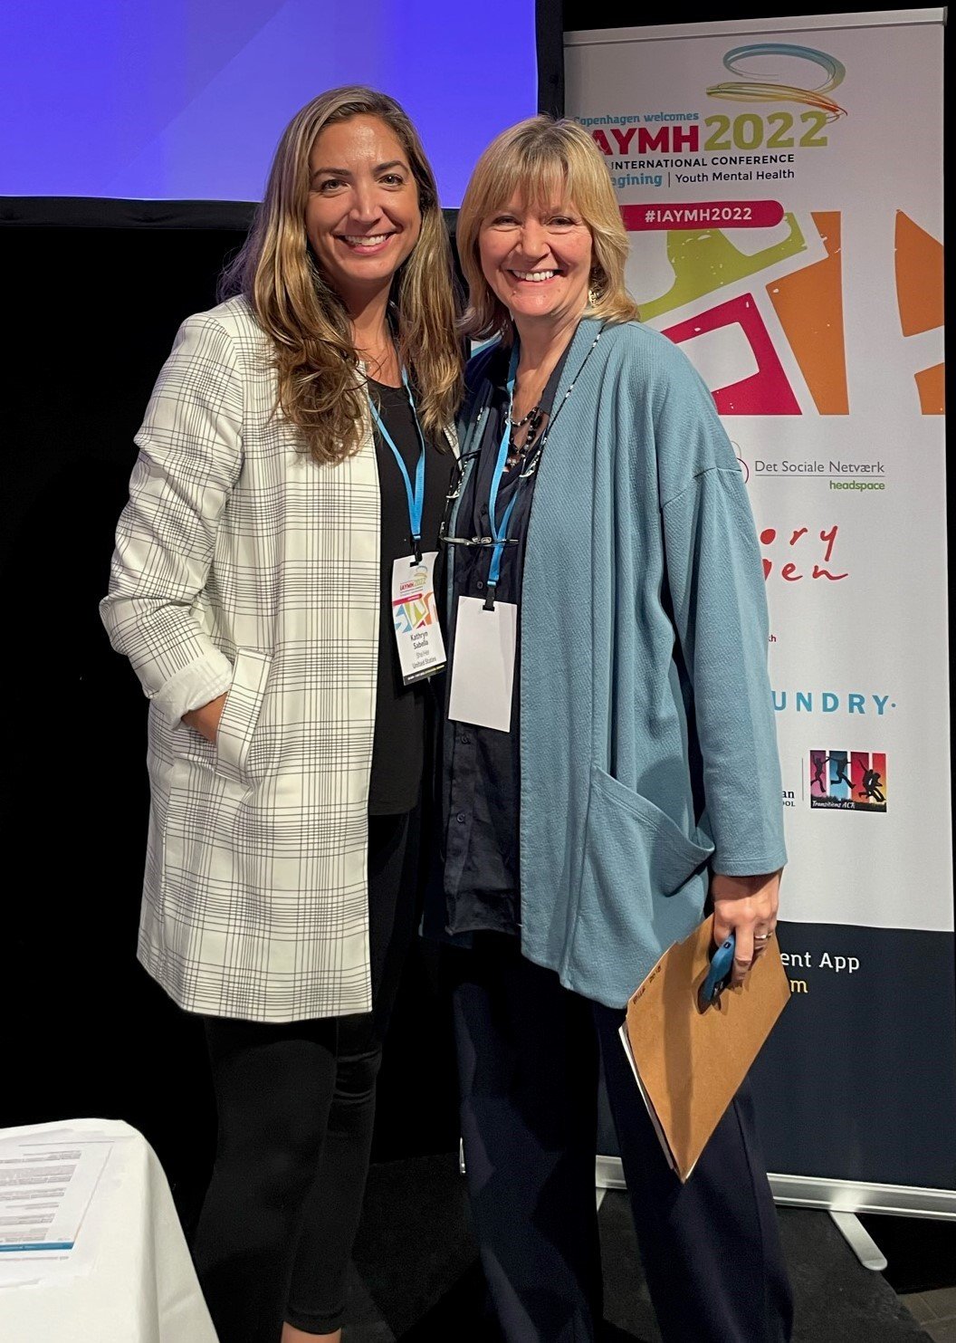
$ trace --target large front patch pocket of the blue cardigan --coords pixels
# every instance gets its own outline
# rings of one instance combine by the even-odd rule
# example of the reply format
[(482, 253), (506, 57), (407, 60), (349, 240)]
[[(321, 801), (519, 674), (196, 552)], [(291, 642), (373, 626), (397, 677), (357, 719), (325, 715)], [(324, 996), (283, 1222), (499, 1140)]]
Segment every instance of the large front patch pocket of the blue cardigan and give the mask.
[(627, 1001), (661, 954), (700, 921), (712, 853), (647, 798), (591, 767), (568, 948), (579, 991), (607, 1003)]

